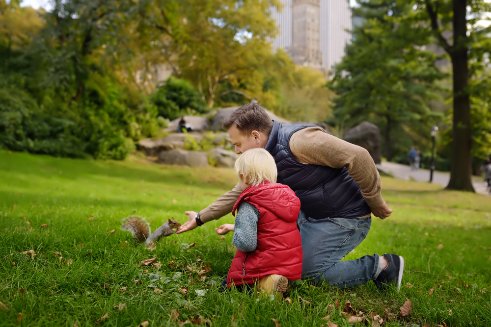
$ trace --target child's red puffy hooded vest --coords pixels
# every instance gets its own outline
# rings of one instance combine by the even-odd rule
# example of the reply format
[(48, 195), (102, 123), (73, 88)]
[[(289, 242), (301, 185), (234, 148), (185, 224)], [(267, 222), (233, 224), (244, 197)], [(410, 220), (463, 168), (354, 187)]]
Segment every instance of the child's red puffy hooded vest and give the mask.
[(233, 215), (243, 201), (259, 210), (257, 247), (253, 252), (237, 250), (228, 272), (227, 286), (252, 284), (273, 274), (289, 280), (300, 279), (302, 244), (296, 223), (300, 200), (295, 192), (277, 183), (249, 186), (235, 202)]

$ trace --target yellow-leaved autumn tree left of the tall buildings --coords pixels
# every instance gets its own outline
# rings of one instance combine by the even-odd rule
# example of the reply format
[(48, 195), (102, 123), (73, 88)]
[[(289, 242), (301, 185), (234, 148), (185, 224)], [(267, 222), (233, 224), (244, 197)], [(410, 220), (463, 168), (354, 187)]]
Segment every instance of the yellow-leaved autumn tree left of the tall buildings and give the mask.
[(237, 75), (254, 74), (271, 53), (267, 37), (274, 35), (276, 27), (268, 9), (279, 6), (278, 0), (157, 3), (157, 8), (147, 11), (145, 23), (162, 33), (162, 39), (155, 39), (160, 47), (156, 50), (174, 67), (176, 76), (196, 86), (209, 108), (230, 93), (246, 98), (255, 96), (228, 88), (227, 81)]

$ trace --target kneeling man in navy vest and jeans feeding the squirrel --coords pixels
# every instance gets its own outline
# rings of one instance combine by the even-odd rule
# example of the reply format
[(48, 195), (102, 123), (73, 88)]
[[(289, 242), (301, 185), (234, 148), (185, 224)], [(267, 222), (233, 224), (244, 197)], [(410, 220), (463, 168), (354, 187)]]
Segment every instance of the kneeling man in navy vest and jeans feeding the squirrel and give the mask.
[[(368, 151), (317, 126), (280, 125), (258, 103), (236, 109), (223, 127), (237, 154), (252, 148), (269, 151), (278, 169), (277, 182), (299, 197), (303, 279), (314, 284), (327, 280), (337, 287), (369, 280), (379, 287), (396, 282), (400, 288), (401, 256), (374, 254), (340, 261), (365, 239), (372, 213), (381, 219), (392, 213), (380, 194), (382, 183)], [(178, 233), (230, 213), (242, 191), (237, 184), (199, 213), (186, 211), (189, 221)]]

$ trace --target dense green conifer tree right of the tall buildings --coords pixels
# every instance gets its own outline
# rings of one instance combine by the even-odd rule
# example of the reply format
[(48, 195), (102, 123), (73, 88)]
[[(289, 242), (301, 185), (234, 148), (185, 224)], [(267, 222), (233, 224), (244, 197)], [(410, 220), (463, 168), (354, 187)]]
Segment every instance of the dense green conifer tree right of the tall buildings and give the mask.
[(333, 100), (331, 124), (341, 129), (364, 120), (384, 126), (385, 157), (393, 156), (395, 129), (429, 129), (438, 114), (428, 107), (436, 98), (434, 82), (442, 74), (435, 54), (424, 50), (428, 33), (414, 28), (414, 3), (398, 0), (358, 1), (354, 14), (363, 17), (342, 62), (328, 84)]

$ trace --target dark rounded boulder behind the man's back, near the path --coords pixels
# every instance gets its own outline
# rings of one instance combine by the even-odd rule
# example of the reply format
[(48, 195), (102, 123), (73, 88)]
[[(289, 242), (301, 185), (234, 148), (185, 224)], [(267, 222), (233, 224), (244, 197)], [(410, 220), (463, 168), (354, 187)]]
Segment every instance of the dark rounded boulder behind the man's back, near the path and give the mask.
[(382, 145), (380, 128), (372, 123), (363, 122), (346, 133), (344, 140), (365, 148), (376, 164), (382, 161)]

